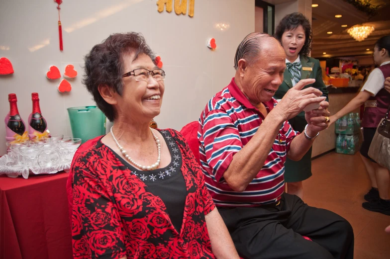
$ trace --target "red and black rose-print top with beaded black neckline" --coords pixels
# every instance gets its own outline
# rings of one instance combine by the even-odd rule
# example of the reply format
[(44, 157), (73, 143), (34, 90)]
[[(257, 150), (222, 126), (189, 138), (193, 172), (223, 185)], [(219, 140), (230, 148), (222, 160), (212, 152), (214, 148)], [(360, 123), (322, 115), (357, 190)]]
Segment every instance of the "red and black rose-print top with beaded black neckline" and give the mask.
[(204, 218), (215, 205), (202, 172), (179, 132), (159, 131), (171, 152), (164, 169), (137, 171), (101, 137), (73, 162), (75, 259), (215, 258)]

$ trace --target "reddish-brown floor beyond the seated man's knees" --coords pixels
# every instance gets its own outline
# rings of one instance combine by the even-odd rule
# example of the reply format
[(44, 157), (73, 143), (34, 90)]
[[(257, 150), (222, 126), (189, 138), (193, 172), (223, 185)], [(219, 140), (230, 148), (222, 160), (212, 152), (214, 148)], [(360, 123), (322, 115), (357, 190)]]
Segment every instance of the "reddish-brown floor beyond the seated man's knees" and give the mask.
[(304, 201), (329, 209), (352, 225), (355, 259), (390, 259), (390, 216), (362, 208), (363, 195), (371, 188), (359, 154), (334, 152), (312, 162), (313, 176), (303, 182)]

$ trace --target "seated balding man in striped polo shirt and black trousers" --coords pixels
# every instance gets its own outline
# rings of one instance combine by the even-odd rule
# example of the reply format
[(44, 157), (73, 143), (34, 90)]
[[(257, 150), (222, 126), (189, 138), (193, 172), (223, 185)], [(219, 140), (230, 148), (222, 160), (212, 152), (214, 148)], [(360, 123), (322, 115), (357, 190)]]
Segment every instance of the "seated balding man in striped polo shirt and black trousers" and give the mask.
[[(280, 43), (266, 34), (251, 33), (238, 46), (235, 77), (199, 119), (206, 185), (241, 257), (352, 259), (348, 221), (284, 193), (286, 157), (302, 158), (329, 121), (325, 97), (307, 86), (314, 79), (301, 80), (277, 104), (285, 60)], [(305, 113), (304, 132), (295, 132), (287, 120), (315, 103), (320, 107)]]

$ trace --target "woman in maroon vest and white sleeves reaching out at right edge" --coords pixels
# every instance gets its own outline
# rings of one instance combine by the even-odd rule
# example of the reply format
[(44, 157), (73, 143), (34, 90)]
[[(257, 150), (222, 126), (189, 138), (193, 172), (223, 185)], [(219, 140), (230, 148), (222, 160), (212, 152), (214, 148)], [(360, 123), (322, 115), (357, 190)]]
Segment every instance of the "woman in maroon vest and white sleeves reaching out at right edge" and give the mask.
[(362, 121), (364, 142), (360, 149), (360, 157), (370, 176), (372, 188), (364, 195), (367, 202), (364, 202), (362, 206), (365, 209), (386, 215), (390, 215), (389, 171), (372, 160), (368, 156), (368, 151), (375, 131), (390, 105), (390, 92), (384, 87), (385, 78), (390, 77), (389, 53), (390, 36), (384, 36), (374, 46), (374, 62), (379, 68), (370, 73), (366, 83), (355, 98), (336, 114), (330, 116), (330, 123), (333, 123), (365, 104)]

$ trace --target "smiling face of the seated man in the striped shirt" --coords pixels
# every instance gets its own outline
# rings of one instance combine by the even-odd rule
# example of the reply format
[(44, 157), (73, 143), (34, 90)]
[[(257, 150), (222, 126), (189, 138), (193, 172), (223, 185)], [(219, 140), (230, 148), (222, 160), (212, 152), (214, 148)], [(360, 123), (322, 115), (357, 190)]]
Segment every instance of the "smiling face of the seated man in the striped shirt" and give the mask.
[(242, 91), (253, 105), (271, 100), (283, 82), (286, 54), (277, 40), (262, 46), (258, 60), (243, 74)]

